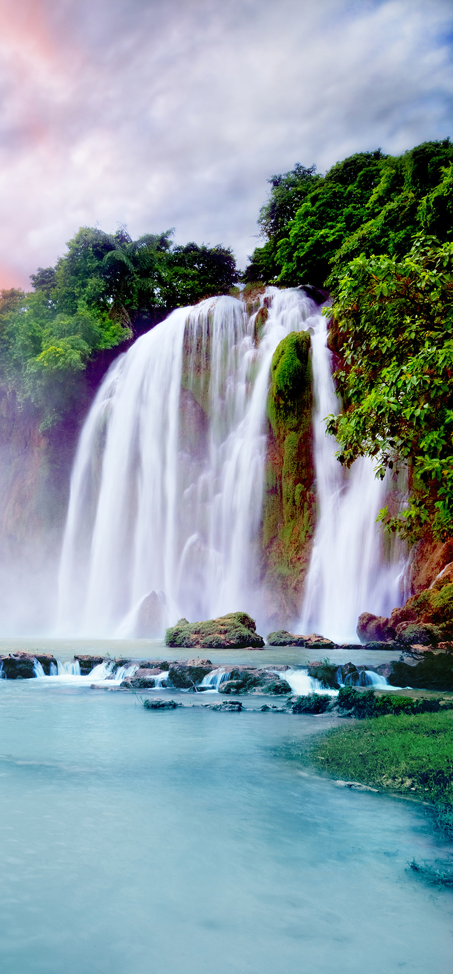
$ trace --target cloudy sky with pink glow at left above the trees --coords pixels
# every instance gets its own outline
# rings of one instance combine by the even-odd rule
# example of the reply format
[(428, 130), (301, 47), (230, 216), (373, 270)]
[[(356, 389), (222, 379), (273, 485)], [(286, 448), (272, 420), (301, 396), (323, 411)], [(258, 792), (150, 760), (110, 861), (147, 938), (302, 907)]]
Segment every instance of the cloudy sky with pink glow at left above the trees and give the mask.
[(453, 136), (449, 0), (0, 0), (0, 287), (79, 226), (259, 244), (267, 179)]

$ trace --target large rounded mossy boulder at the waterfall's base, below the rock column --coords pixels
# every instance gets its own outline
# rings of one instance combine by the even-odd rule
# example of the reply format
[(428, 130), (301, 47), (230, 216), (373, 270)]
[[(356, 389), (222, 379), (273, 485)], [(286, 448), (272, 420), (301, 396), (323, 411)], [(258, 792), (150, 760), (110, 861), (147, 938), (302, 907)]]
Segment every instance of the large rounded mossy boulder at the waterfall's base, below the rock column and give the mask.
[(245, 612), (232, 612), (204, 622), (188, 622), (180, 618), (176, 625), (167, 629), (166, 646), (183, 646), (187, 649), (262, 649), (264, 640), (256, 633), (255, 622)]

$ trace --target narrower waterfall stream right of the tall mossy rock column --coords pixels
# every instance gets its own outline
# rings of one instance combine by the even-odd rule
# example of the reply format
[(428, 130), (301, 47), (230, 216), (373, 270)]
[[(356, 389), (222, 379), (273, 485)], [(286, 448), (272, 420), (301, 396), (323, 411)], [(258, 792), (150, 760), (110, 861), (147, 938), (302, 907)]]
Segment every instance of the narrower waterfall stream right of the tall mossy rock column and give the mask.
[(338, 411), (331, 358), (327, 319), (319, 316), (312, 336), (319, 511), (299, 631), (328, 633), (342, 642), (357, 641), (361, 612), (387, 616), (399, 604), (403, 562), (397, 543), (393, 558), (383, 557), (382, 529), (376, 525), (389, 490), (386, 479), (375, 477), (368, 458), (344, 470), (335, 458), (337, 443), (325, 433), (325, 417)]

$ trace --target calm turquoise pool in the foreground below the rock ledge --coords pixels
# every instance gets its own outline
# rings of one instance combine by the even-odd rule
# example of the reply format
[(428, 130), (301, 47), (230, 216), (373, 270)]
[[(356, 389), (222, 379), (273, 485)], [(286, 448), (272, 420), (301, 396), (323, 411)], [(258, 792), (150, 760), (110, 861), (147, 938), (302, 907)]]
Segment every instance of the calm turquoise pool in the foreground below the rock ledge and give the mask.
[(421, 811), (284, 760), (328, 723), (2, 681), (2, 969), (449, 974)]

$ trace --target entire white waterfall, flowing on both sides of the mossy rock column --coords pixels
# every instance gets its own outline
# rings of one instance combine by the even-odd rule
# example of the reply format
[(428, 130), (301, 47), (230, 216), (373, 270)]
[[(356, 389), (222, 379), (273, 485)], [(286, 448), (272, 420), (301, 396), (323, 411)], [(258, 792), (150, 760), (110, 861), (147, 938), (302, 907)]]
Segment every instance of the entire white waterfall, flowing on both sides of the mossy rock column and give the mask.
[(370, 465), (345, 480), (322, 429), (335, 408), (325, 318), (299, 289), (268, 288), (263, 300), (259, 340), (256, 316), (222, 297), (172, 312), (110, 368), (72, 473), (60, 632), (132, 635), (150, 592), (163, 609), (155, 635), (182, 615), (266, 618), (258, 539), (269, 374), (278, 344), (302, 329), (313, 333), (320, 499), (306, 628), (350, 638), (360, 611), (392, 601), (374, 524), (382, 485)]

